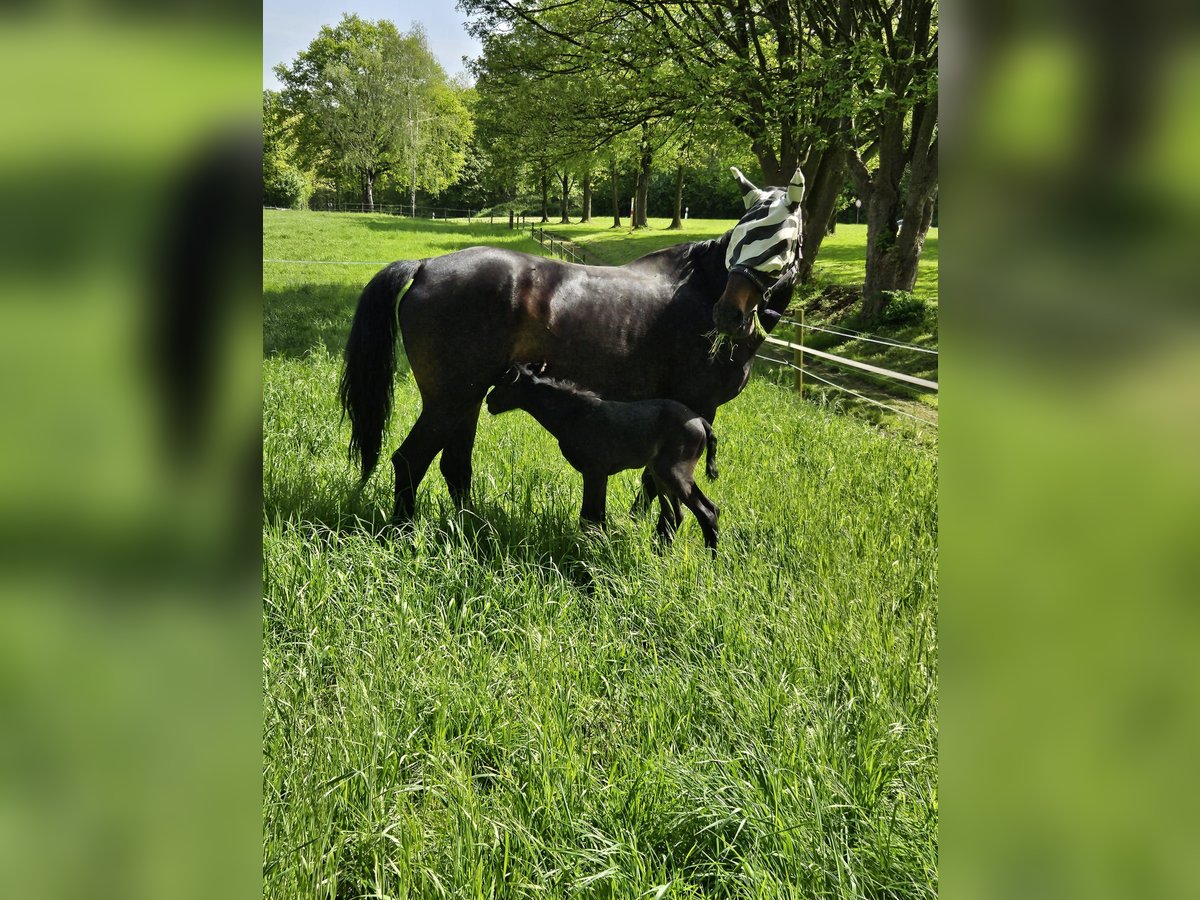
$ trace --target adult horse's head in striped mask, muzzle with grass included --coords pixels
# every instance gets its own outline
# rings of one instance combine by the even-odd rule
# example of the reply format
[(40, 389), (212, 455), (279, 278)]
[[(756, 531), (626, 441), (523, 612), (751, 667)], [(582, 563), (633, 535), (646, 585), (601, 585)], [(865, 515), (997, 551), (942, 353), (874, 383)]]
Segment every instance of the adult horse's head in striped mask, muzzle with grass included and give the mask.
[(730, 234), (725, 252), (730, 278), (713, 307), (713, 324), (722, 334), (748, 337), (755, 310), (799, 260), (804, 174), (796, 169), (786, 190), (760, 191), (737, 168), (732, 172), (742, 186), (746, 214)]

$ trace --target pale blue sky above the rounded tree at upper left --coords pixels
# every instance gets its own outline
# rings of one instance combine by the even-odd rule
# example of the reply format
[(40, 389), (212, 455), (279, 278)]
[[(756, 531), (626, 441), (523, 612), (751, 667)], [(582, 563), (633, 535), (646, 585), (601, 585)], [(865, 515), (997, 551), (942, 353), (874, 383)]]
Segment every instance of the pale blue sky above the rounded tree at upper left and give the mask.
[(290, 62), (317, 36), (322, 25), (336, 25), (343, 12), (364, 19), (390, 19), (401, 31), (415, 22), (425, 26), (430, 49), (446, 74), (466, 72), (463, 56), (479, 53), (479, 41), (467, 34), (466, 17), (455, 0), (264, 0), (263, 88), (278, 90), (271, 70)]

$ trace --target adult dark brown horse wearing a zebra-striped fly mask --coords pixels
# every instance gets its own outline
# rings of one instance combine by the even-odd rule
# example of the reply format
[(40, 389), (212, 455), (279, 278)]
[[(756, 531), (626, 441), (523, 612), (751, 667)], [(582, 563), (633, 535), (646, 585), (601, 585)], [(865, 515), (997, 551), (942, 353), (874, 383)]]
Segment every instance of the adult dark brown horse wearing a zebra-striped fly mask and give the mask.
[[(786, 188), (760, 190), (731, 172), (746, 212), (713, 240), (620, 266), (468, 247), (398, 260), (371, 278), (347, 338), (340, 396), (361, 486), (379, 460), (403, 337), (421, 412), (391, 456), (394, 522), (412, 517), (438, 452), (451, 499), (469, 505), (480, 406), (515, 362), (547, 362), (608, 400), (676, 400), (709, 422), (742, 392), (764, 332), (792, 296), (804, 175), (797, 169)], [(635, 511), (649, 508), (655, 490), (643, 472)]]

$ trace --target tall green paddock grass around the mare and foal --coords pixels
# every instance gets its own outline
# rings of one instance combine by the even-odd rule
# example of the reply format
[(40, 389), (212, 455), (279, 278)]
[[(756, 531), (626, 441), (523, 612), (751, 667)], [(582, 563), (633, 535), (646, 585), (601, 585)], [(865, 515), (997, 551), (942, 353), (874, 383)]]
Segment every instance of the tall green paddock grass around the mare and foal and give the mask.
[[(272, 259), (473, 242), (530, 250), (264, 214)], [(264, 895), (935, 896), (934, 454), (752, 379), (714, 560), (622, 514), (634, 473), (582, 534), (553, 439), (485, 414), (474, 512), (434, 468), (395, 536), (336, 402), (373, 271), (264, 264)], [(386, 445), (416, 412), (401, 377)]]

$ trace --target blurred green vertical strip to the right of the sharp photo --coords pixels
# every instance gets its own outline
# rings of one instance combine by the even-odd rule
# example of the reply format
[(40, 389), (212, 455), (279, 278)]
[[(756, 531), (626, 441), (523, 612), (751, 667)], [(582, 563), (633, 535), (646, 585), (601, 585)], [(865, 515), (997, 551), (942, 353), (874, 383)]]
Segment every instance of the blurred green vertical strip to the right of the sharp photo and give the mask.
[(1194, 10), (948, 17), (942, 890), (1195, 896)]

